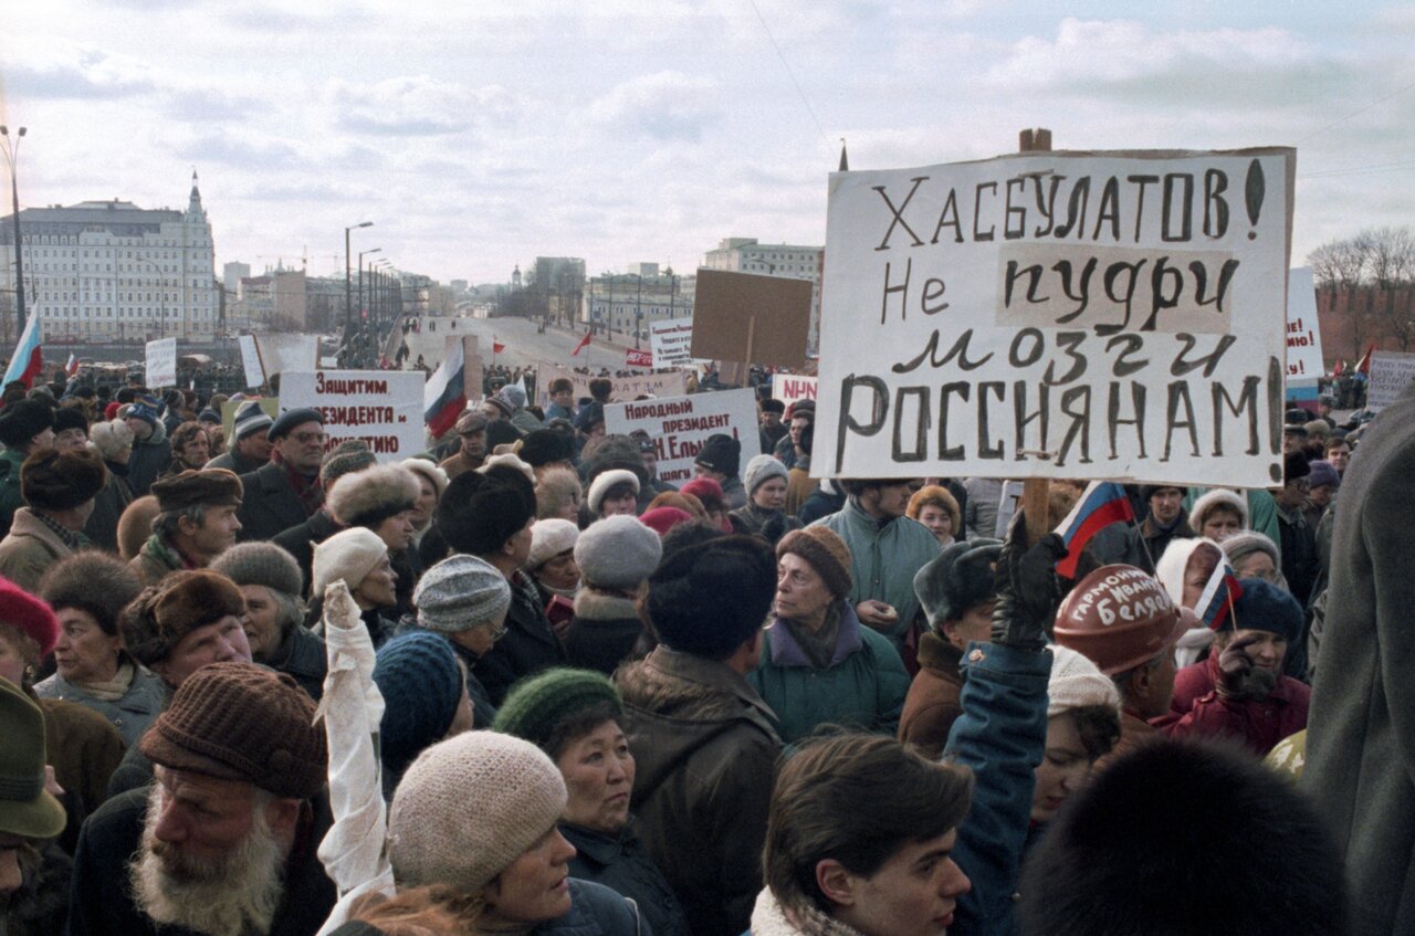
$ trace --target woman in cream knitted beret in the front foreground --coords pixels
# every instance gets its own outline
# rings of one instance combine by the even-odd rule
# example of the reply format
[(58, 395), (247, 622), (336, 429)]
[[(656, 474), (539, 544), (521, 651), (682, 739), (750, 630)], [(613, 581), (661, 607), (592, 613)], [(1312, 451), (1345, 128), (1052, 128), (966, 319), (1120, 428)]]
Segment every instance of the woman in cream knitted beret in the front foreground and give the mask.
[(388, 810), (388, 860), (399, 889), (450, 888), (475, 913), (466, 932), (529, 936), (647, 932), (635, 906), (608, 888), (569, 878), (574, 847), (558, 823), (569, 795), (529, 741), (466, 731), (426, 749), (403, 773)]

